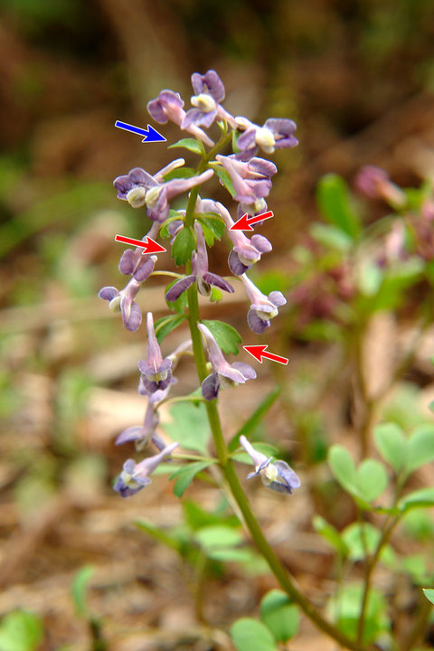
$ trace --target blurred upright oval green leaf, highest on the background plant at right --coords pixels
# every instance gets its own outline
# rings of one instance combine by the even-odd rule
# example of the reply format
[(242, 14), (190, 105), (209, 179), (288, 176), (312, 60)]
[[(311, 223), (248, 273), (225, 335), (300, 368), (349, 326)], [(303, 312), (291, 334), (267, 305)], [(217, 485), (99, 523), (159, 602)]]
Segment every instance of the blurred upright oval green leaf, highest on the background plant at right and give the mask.
[(316, 199), (326, 222), (334, 224), (356, 240), (361, 231), (360, 218), (354, 210), (348, 186), (342, 176), (328, 174), (318, 183)]

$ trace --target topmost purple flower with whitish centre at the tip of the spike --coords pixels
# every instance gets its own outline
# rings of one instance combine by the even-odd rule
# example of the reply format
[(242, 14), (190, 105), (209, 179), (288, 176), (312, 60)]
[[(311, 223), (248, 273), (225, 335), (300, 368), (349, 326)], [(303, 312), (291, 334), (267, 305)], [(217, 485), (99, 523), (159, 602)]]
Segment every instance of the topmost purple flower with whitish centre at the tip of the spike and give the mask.
[(216, 71), (208, 71), (204, 75), (194, 72), (192, 84), (195, 94), (191, 102), (194, 109), (187, 111), (181, 128), (186, 129), (192, 125), (208, 128), (211, 127), (215, 118), (226, 120), (233, 128), (237, 127), (235, 118), (220, 104), (224, 99), (225, 91), (223, 82)]

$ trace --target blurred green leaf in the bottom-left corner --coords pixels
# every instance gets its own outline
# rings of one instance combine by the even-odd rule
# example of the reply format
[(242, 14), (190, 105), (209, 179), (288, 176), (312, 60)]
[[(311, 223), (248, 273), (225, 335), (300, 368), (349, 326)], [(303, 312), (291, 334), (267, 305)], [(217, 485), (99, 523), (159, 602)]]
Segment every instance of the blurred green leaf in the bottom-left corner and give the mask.
[(14, 610), (0, 624), (2, 651), (36, 651), (43, 638), (42, 620), (27, 610)]

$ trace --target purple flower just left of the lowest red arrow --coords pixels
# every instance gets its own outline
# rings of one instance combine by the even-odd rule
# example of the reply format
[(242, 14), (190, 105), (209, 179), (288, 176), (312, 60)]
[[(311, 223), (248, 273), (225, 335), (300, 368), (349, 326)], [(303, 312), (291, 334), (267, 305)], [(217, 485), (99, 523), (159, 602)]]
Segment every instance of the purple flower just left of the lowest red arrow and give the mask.
[(202, 382), (202, 395), (205, 400), (211, 401), (217, 398), (221, 386), (237, 386), (238, 384), (244, 384), (248, 380), (254, 380), (256, 372), (250, 364), (243, 362), (230, 364), (227, 362), (206, 325), (199, 324), (197, 327), (202, 332), (208, 345), (208, 358), (213, 371)]

